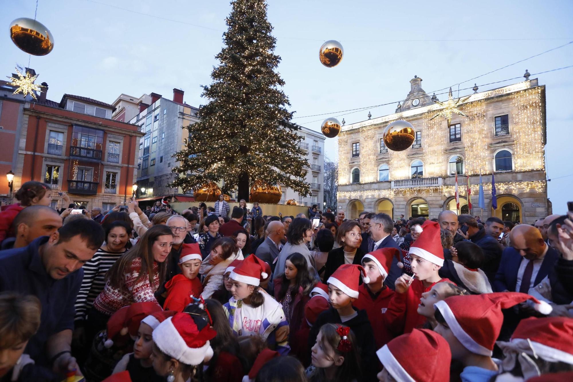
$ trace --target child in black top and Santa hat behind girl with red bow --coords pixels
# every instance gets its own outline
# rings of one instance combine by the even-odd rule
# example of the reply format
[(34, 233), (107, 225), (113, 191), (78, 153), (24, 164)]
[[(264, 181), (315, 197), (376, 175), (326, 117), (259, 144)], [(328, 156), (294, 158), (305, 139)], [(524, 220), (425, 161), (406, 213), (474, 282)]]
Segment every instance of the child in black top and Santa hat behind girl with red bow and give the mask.
[(349, 326), (356, 336), (356, 345), (361, 349), (362, 369), (365, 380), (372, 380), (376, 375), (374, 353), (376, 344), (372, 336), (372, 326), (365, 310), (358, 310), (352, 303), (358, 298), (358, 282), (369, 283), (370, 279), (362, 266), (343, 264), (328, 278), (329, 309), (323, 311), (312, 325), (308, 336), (308, 347), (316, 343), (321, 326), (325, 323), (342, 323)]

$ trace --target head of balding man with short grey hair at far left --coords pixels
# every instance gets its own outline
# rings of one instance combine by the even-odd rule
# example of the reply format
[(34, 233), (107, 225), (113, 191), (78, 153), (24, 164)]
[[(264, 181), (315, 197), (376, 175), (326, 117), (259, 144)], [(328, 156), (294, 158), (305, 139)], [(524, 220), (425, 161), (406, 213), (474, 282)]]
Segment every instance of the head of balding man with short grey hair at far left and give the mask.
[(45, 205), (26, 207), (14, 219), (15, 240), (4, 240), (2, 250), (26, 247), (40, 236), (52, 235), (61, 226), (62, 218), (55, 209)]

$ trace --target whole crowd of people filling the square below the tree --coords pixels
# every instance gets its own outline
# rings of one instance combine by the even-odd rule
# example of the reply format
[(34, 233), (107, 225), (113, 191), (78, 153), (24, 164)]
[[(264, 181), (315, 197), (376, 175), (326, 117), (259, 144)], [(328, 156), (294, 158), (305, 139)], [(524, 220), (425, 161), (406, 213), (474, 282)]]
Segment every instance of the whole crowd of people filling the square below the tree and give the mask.
[[(0, 212), (0, 381), (573, 380), (573, 213)], [(64, 207), (72, 204), (62, 195)]]

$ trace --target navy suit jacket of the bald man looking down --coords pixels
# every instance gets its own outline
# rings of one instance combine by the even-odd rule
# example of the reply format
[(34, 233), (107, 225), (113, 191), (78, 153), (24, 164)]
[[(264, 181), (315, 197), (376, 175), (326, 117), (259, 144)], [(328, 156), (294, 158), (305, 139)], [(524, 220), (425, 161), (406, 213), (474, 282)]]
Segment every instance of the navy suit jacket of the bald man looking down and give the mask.
[[(549, 247), (543, 263), (537, 272), (533, 286), (536, 286), (543, 280), (548, 274), (550, 274), (552, 268), (555, 266), (559, 258), (559, 254), (553, 248)], [(497, 270), (496, 278), (492, 284), (493, 290), (496, 292), (503, 292), (508, 290), (510, 292), (515, 292), (515, 286), (517, 284), (517, 272), (519, 271), (519, 266), (523, 258), (513, 247), (505, 248), (503, 254), (501, 255), (500, 267)]]

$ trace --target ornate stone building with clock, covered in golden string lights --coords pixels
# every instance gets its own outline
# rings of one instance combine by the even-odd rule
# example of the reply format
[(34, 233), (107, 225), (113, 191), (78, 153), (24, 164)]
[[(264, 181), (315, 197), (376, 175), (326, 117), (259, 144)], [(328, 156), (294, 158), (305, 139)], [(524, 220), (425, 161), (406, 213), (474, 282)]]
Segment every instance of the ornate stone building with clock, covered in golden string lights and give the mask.
[[(438, 217), (457, 211), (486, 219), (497, 216), (515, 223), (533, 223), (551, 213), (545, 174), (545, 86), (529, 79), (474, 93), (448, 121), (433, 118), (442, 107), (425, 93), (422, 79), (410, 80), (411, 90), (394, 114), (349, 124), (339, 134), (338, 208), (355, 219), (362, 211), (384, 212), (398, 219)], [(414, 142), (406, 150), (384, 145), (384, 128), (395, 120), (414, 126)], [(478, 207), (480, 173), (485, 208)], [(492, 208), (492, 173), (497, 209)], [(469, 211), (467, 184), (471, 188)]]

